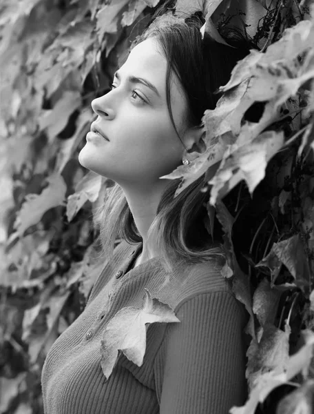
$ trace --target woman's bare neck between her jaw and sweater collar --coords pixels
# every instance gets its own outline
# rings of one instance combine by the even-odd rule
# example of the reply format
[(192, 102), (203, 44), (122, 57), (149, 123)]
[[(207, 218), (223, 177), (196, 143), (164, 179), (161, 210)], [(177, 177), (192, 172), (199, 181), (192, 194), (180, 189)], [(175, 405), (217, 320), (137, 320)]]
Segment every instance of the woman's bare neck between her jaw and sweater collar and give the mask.
[(160, 179), (154, 184), (140, 183), (132, 186), (119, 184), (127, 199), (127, 204), (131, 210), (138, 233), (140, 233), (143, 239), (143, 250), (138, 258), (139, 263), (143, 263), (158, 255), (158, 252), (149, 248), (147, 233), (156, 217), (158, 204), (169, 181), (171, 180)]

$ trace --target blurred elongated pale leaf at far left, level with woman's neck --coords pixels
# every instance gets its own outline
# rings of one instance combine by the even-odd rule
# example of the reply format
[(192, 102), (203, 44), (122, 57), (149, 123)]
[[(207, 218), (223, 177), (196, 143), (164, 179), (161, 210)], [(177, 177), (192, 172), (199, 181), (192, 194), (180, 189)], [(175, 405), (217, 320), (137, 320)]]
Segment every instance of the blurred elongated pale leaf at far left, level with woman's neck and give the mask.
[(61, 175), (53, 174), (46, 181), (48, 181), (48, 187), (40, 195), (28, 194), (25, 196), (25, 201), (14, 222), (14, 228), (17, 229), (20, 236), (27, 228), (37, 224), (50, 208), (64, 204), (67, 186)]

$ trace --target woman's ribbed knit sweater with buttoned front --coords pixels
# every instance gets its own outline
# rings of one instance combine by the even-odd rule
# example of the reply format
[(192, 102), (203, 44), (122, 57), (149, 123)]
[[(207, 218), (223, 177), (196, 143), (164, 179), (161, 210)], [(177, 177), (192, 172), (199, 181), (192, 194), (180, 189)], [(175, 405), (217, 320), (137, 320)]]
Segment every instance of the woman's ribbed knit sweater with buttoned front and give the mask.
[[(227, 414), (244, 404), (247, 314), (221, 265), (181, 264), (168, 272), (154, 257), (129, 269), (141, 248), (116, 246), (83, 313), (50, 348), (41, 377), (45, 414)], [(145, 288), (180, 323), (149, 324), (142, 366), (119, 352), (106, 382), (105, 326), (125, 306), (140, 308)]]

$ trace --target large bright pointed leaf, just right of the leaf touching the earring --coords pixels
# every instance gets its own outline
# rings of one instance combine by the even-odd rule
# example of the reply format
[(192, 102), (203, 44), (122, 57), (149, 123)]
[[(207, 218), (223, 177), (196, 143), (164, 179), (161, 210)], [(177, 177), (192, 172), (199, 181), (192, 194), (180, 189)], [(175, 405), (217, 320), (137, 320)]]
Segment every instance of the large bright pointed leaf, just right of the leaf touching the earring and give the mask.
[(267, 162), (282, 147), (283, 142), (282, 131), (266, 131), (249, 145), (230, 146), (216, 175), (209, 181), (212, 185), (210, 203), (216, 204), (217, 199), (224, 197), (242, 179), (247, 182), (252, 194), (265, 176)]

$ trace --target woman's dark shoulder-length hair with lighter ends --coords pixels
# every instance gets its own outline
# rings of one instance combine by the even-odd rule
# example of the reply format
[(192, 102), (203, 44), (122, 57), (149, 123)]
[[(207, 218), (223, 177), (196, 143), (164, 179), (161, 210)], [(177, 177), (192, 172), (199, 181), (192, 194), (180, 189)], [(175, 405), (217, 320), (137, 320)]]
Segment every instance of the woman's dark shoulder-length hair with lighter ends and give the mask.
[[(162, 16), (157, 15), (153, 23), (136, 39), (135, 44), (138, 44), (154, 37), (167, 58), (167, 107), (173, 125), (170, 101), (172, 72), (177, 75), (187, 97), (188, 123), (200, 126), (205, 110), (216, 106), (219, 98), (216, 91), (219, 86), (229, 81), (235, 63), (243, 59), (251, 48), (251, 43), (234, 31), (224, 31), (223, 34), (224, 39), (234, 48), (213, 41), (206, 34), (202, 39), (200, 27), (203, 23), (204, 19), (198, 13), (187, 19), (178, 19), (168, 12)], [(174, 128), (176, 130), (175, 125)], [(177, 130), (176, 132), (180, 139)], [(205, 186), (205, 174), (174, 198), (180, 181), (174, 179), (168, 184), (147, 235), (147, 243), (152, 251), (158, 252), (165, 259), (168, 270), (178, 262), (209, 262), (222, 255), (218, 242), (211, 239), (204, 224), (208, 193), (201, 189)], [(107, 257), (109, 255), (109, 259), (117, 238), (125, 239), (129, 244), (142, 241), (123, 190), (118, 184), (109, 189), (107, 200), (95, 218), (100, 224), (103, 254)]]

